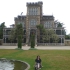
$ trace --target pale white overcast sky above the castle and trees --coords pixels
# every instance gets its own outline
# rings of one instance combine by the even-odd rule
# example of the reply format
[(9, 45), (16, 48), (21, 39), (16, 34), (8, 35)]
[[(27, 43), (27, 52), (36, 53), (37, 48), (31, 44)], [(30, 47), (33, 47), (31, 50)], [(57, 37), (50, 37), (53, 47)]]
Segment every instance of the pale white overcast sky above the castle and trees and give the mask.
[(0, 23), (9, 27), (14, 24), (14, 17), (23, 12), (26, 15), (27, 2), (43, 2), (43, 14), (53, 15), (55, 20), (64, 24), (67, 34), (70, 33), (70, 0), (0, 0)]

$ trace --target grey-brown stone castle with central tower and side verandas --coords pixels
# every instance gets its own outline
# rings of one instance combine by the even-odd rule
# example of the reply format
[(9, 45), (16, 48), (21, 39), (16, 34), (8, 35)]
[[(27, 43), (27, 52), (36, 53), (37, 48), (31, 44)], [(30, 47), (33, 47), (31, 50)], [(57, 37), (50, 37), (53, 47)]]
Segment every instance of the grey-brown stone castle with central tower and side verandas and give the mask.
[[(30, 44), (30, 34), (32, 32), (35, 33), (35, 43), (37, 45), (54, 45), (54, 43), (47, 43), (44, 41), (41, 41), (42, 35), (40, 35), (40, 39), (37, 37), (37, 27), (36, 25), (43, 24), (45, 29), (53, 29), (56, 34), (59, 36), (59, 42), (56, 45), (64, 45), (64, 28), (63, 27), (57, 27), (57, 24), (54, 23), (54, 16), (53, 15), (43, 15), (43, 2), (32, 2), (27, 3), (27, 14), (26, 15), (18, 15), (14, 18), (15, 26), (16, 24), (22, 23), (23, 29), (24, 29), (24, 40), (23, 44)], [(15, 27), (14, 26), (14, 27)], [(14, 28), (12, 27), (12, 28)], [(3, 44), (8, 45), (11, 42), (9, 41), (9, 31), (11, 31), (12, 28), (5, 28), (4, 34), (3, 34)], [(15, 40), (13, 43), (17, 43)], [(14, 44), (15, 45), (15, 44)]]

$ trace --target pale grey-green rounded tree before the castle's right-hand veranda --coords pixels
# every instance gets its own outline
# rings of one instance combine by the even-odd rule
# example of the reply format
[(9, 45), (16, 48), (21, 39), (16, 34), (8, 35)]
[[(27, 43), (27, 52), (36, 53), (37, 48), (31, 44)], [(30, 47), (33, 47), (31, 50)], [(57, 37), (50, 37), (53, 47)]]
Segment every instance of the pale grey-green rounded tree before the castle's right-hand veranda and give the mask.
[(55, 33), (53, 29), (47, 29), (45, 35), (43, 35), (43, 40), (49, 43), (52, 40), (52, 43), (56, 43), (58, 42), (58, 35)]

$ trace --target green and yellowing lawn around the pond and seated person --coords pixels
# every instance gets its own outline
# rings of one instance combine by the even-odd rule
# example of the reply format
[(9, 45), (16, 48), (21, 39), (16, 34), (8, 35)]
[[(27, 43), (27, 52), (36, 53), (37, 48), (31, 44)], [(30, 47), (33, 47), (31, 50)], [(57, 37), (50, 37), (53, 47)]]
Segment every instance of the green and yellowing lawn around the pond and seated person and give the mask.
[(26, 61), (34, 70), (37, 55), (42, 59), (41, 70), (70, 70), (70, 50), (18, 50), (0, 49), (0, 58)]

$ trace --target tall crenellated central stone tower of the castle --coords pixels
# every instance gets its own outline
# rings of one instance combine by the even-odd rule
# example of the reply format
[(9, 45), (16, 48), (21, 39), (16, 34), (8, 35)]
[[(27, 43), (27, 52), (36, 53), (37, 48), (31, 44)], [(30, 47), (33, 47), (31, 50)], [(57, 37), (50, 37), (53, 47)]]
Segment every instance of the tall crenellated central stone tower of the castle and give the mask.
[(42, 2), (33, 2), (27, 3), (27, 15), (26, 15), (26, 35), (27, 35), (27, 43), (29, 40), (29, 36), (31, 31), (37, 33), (36, 25), (40, 24), (40, 20), (42, 17)]

